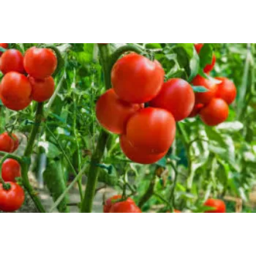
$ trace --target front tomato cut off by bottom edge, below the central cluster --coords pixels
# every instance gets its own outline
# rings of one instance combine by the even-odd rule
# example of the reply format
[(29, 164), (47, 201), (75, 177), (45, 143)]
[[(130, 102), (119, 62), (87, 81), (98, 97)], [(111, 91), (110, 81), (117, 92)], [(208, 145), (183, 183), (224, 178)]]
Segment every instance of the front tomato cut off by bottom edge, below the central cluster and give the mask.
[(135, 203), (129, 201), (123, 201), (119, 203), (114, 203), (110, 207), (110, 214), (142, 214), (142, 211)]

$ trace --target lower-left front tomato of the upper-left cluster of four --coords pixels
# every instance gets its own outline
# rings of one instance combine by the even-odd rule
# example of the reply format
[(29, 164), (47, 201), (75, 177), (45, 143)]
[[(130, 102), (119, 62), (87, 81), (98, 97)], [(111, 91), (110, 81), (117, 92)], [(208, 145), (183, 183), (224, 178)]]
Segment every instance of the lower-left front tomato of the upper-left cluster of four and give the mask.
[(26, 101), (31, 97), (29, 79), (18, 72), (9, 72), (1, 80), (0, 94), (7, 101)]

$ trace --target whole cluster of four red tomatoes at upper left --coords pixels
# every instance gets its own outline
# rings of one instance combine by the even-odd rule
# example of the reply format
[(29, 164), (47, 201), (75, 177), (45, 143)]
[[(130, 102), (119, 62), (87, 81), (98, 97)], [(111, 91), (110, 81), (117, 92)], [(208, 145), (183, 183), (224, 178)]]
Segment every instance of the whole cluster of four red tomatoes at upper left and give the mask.
[[(7, 48), (8, 44), (0, 46)], [(24, 56), (19, 50), (6, 50), (0, 58), (0, 70), (4, 74), (0, 86), (3, 104), (11, 110), (23, 110), (32, 100), (45, 102), (50, 99), (55, 86), (51, 75), (57, 62), (53, 50), (48, 48), (32, 47)]]

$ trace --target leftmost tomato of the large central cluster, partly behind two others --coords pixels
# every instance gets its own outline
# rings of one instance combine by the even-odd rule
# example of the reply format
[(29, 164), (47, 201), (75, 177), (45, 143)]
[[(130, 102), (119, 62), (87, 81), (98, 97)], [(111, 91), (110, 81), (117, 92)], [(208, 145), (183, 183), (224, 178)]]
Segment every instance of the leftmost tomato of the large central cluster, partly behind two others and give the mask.
[(126, 132), (127, 121), (140, 108), (139, 104), (124, 102), (113, 89), (99, 97), (96, 105), (96, 116), (99, 124), (109, 132), (121, 135)]

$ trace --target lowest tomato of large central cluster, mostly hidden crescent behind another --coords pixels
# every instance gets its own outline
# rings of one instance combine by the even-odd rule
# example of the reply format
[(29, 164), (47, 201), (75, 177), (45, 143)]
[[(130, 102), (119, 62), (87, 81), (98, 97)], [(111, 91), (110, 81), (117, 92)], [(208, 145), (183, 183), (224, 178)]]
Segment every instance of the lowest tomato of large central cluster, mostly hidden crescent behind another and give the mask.
[(135, 146), (132, 146), (132, 143), (127, 140), (126, 135), (120, 136), (120, 146), (121, 150), (132, 162), (143, 165), (154, 164), (167, 154), (167, 151), (160, 154), (149, 154), (148, 152), (140, 150), (140, 148), (135, 148)]

